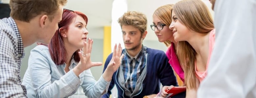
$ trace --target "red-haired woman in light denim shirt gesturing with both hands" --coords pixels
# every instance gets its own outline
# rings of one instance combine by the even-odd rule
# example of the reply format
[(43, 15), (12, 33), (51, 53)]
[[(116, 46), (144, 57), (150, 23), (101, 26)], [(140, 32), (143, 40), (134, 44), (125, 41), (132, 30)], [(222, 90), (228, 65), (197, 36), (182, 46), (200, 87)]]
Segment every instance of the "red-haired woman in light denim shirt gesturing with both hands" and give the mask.
[(67, 98), (79, 86), (89, 98), (100, 98), (107, 92), (112, 75), (120, 66), (122, 49), (120, 44), (115, 45), (106, 71), (95, 81), (90, 68), (102, 63), (90, 60), (93, 40), (87, 38), (87, 23), (85, 14), (64, 9), (50, 43), (31, 50), (22, 82), (29, 98)]

